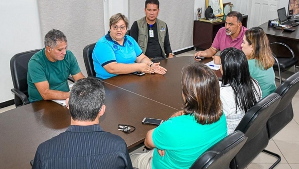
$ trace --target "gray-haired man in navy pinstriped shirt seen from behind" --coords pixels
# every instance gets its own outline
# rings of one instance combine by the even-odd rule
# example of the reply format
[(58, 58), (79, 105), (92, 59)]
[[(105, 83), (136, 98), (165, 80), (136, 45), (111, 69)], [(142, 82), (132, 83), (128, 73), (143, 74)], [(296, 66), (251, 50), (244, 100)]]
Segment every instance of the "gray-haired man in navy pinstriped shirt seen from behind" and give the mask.
[(32, 169), (132, 169), (125, 141), (99, 125), (106, 109), (104, 101), (100, 81), (85, 78), (75, 82), (66, 99), (71, 125), (38, 146)]

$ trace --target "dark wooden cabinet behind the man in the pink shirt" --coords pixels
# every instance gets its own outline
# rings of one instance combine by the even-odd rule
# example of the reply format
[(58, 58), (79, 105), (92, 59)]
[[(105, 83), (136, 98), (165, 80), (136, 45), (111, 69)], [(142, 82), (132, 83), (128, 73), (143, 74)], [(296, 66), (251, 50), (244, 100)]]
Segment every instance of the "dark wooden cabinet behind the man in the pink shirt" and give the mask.
[[(243, 15), (242, 25), (247, 27), (248, 15)], [(209, 23), (194, 20), (193, 46), (200, 49), (211, 47), (218, 30), (225, 26), (225, 21)]]

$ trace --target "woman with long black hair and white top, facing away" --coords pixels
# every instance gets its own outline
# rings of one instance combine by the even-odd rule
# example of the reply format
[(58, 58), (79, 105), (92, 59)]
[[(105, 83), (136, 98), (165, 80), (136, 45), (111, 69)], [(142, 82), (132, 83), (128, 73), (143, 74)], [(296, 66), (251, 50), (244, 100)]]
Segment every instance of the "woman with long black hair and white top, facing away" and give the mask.
[(227, 133), (235, 131), (244, 114), (262, 97), (262, 90), (251, 78), (245, 54), (236, 48), (221, 52), (222, 86), (220, 99), (227, 122)]

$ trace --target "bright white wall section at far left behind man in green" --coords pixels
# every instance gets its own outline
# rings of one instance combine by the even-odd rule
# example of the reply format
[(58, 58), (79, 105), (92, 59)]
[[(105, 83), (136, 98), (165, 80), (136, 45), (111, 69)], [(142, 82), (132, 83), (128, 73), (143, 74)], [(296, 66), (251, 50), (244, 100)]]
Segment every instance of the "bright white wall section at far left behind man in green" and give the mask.
[(36, 0), (0, 0), (0, 103), (13, 99), (9, 61), (42, 48)]

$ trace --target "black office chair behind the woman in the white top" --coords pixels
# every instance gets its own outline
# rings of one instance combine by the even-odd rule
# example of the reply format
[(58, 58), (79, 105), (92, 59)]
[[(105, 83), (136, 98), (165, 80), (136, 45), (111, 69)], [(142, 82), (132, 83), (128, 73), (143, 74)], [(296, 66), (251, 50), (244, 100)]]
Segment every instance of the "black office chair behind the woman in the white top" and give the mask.
[(271, 93), (245, 113), (235, 131), (243, 132), (248, 139), (231, 161), (231, 169), (244, 169), (267, 147), (269, 139), (266, 123), (280, 100), (279, 94)]

